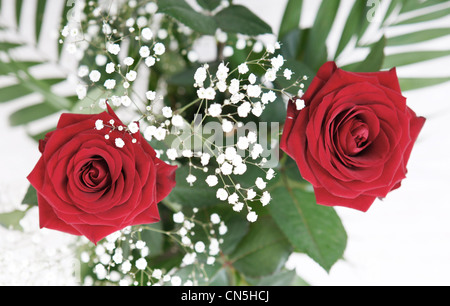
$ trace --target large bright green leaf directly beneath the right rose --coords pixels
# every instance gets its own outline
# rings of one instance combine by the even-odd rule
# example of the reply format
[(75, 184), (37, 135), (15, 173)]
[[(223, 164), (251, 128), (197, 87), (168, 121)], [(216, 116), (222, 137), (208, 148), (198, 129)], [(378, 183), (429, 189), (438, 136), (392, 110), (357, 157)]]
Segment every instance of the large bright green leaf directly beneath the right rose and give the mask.
[[(280, 177), (281, 176), (281, 177)], [(342, 258), (347, 234), (332, 207), (317, 205), (314, 192), (278, 175), (269, 211), (295, 251), (303, 252), (326, 271)]]

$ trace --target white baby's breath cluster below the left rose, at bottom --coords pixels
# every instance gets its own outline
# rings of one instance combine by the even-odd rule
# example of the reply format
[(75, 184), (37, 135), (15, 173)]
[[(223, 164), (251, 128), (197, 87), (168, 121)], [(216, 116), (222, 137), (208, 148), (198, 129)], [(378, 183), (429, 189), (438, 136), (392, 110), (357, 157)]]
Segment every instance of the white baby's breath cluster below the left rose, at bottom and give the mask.
[[(93, 267), (96, 279), (88, 276), (83, 280), (83, 284), (95, 285), (100, 281), (121, 286), (166, 284), (193, 286), (198, 285), (199, 276), (202, 279), (208, 279), (203, 267), (216, 263), (220, 254), (220, 245), (223, 243), (221, 237), (228, 232), (228, 228), (218, 214), (211, 214), (209, 222), (204, 224), (195, 217), (198, 209), (193, 211), (194, 215), (191, 217), (185, 216), (182, 212), (175, 213), (173, 221), (179, 226), (171, 232), (145, 226), (127, 227), (107, 236), (90, 252), (84, 251), (81, 254), (81, 261)], [(185, 253), (179, 268), (169, 271), (151, 268), (149, 256), (152, 250), (144, 240), (139, 238), (145, 230), (165, 234), (179, 244)], [(196, 230), (207, 230), (207, 239), (197, 239)], [(193, 266), (193, 271), (196, 271), (198, 275), (191, 274), (187, 279), (182, 279), (178, 271), (187, 266)], [(146, 275), (146, 283), (141, 283), (143, 274)]]

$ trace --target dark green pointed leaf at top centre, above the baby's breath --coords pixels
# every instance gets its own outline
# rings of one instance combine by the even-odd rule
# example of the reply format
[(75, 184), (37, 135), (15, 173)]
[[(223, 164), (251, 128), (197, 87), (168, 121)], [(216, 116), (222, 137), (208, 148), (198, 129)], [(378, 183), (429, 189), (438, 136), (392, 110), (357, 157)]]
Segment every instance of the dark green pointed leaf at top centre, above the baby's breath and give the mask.
[(230, 5), (214, 16), (219, 28), (227, 33), (250, 36), (272, 33), (272, 28), (242, 5)]

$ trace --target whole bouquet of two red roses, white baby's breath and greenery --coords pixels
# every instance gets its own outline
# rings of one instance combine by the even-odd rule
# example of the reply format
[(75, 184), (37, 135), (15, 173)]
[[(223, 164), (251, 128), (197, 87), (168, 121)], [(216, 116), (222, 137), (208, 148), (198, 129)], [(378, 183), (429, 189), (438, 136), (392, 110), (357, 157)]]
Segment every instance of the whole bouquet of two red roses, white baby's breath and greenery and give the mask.
[[(385, 35), (448, 1), (356, 1), (330, 47), (341, 2), (309, 27), (304, 1), (280, 2), (274, 34), (232, 0), (37, 1), (35, 45), (46, 10), (62, 17), (45, 45), (59, 76), (39, 77), (46, 61), (5, 36), (0, 73), (16, 84), (0, 102), (39, 93), (10, 124), (53, 125), (29, 130), (41, 157), (25, 209), (0, 223), (36, 208), (41, 228), (79, 237), (83, 285), (305, 285), (286, 268), (294, 253), (330, 271), (347, 244), (334, 207), (368, 212), (406, 178), (426, 120), (402, 91), (448, 80), (395, 68), (448, 51), (386, 52), (448, 29)], [(18, 25), (23, 10), (15, 1)]]

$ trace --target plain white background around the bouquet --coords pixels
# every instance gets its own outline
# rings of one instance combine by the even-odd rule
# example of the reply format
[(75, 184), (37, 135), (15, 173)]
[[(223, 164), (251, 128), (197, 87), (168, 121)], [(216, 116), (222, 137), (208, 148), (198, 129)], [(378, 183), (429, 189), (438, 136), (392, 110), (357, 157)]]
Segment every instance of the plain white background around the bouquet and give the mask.
[[(235, 2), (251, 7), (277, 33), (286, 0)], [(310, 9), (305, 10), (302, 24), (308, 24), (320, 3), (305, 2)], [(343, 0), (344, 4), (351, 2)], [(449, 18), (437, 24), (450, 27)], [(338, 38), (333, 35), (331, 46)], [(421, 47), (448, 50), (450, 39), (447, 36)], [(449, 67), (450, 57), (444, 57), (399, 68), (398, 73), (405, 77), (450, 76)], [(404, 95), (409, 106), (427, 118), (408, 165), (408, 178), (401, 189), (377, 201), (367, 213), (337, 209), (348, 233), (348, 246), (345, 258), (329, 274), (306, 256), (292, 258), (290, 263), (312, 285), (450, 285), (450, 83)], [(40, 155), (23, 128), (8, 125), (8, 115), (19, 107), (18, 103), (0, 104), (0, 212), (20, 203), (28, 186), (26, 176)], [(33, 261), (33, 254), (14, 245), (21, 239), (19, 233), (8, 241), (6, 235), (13, 235), (11, 232), (0, 229), (0, 235), (0, 253), (16, 250), (21, 253), (14, 256), (28, 256), (26, 260)], [(52, 239), (61, 239), (61, 243), (70, 241), (55, 235)]]

